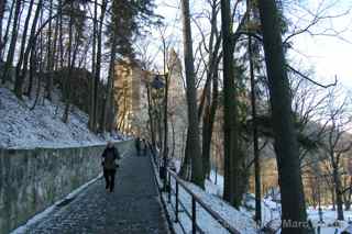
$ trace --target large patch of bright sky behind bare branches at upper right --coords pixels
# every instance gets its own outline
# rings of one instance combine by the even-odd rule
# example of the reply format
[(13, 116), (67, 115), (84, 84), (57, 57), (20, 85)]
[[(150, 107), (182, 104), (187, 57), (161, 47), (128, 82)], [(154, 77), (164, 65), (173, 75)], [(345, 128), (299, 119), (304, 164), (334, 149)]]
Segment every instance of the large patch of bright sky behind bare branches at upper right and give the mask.
[[(321, 2), (320, 9), (327, 9), (323, 14), (333, 16), (341, 15), (339, 18), (331, 18), (328, 20), (321, 20), (317, 26), (312, 27), (312, 32), (317, 34), (338, 34), (338, 36), (323, 36), (323, 35), (310, 35), (308, 33), (296, 36), (294, 42), (294, 49), (292, 56), (305, 64), (307, 67), (314, 68), (316, 71), (316, 79), (329, 82), (334, 80), (337, 76), (338, 80), (348, 89), (352, 89), (352, 9), (351, 0), (334, 0), (336, 5), (330, 5), (330, 0), (309, 0), (307, 1), (307, 8), (312, 12), (319, 10), (317, 5)], [(323, 10), (321, 10), (323, 11)], [(302, 19), (311, 19), (301, 14)], [(297, 22), (296, 18), (295, 22)], [(307, 21), (308, 21), (307, 20)], [(301, 25), (307, 25), (308, 22), (300, 20)], [(334, 30), (334, 32), (332, 31)]]

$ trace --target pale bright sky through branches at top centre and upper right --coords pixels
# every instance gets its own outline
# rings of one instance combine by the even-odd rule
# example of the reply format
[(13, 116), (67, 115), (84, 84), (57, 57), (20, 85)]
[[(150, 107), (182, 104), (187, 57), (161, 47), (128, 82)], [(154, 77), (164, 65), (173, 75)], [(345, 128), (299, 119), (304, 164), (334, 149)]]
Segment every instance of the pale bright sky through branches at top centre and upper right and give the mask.
[[(176, 29), (169, 30), (169, 34), (173, 34), (173, 38), (177, 42), (182, 40), (180, 31), (180, 11), (176, 8), (179, 0), (156, 0), (157, 9), (156, 13), (163, 15), (167, 22), (173, 22)], [(298, 1), (298, 0), (293, 0)], [(323, 4), (319, 4), (323, 1)], [(167, 3), (165, 3), (167, 2)], [(190, 7), (195, 3), (204, 2), (204, 0), (190, 0)], [(294, 49), (289, 54), (289, 58), (295, 63), (300, 63), (306, 69), (312, 68), (315, 70), (315, 79), (324, 83), (329, 83), (338, 77), (338, 80), (352, 90), (352, 12), (346, 12), (349, 8), (352, 9), (352, 0), (333, 0), (336, 5), (329, 8), (332, 0), (306, 0), (300, 1), (304, 7), (311, 12), (321, 12), (324, 15), (345, 15), (340, 18), (327, 19), (320, 21), (317, 26), (312, 27), (314, 32), (322, 32), (329, 29), (327, 33), (331, 33), (331, 29), (340, 32), (340, 37), (334, 36), (311, 36), (309, 34), (302, 34), (296, 36), (292, 42), (294, 43)], [(168, 7), (174, 5), (174, 7)], [(294, 10), (296, 16), (292, 18), (294, 24), (298, 24), (304, 27), (309, 22), (309, 11), (305, 11), (304, 8)], [(290, 12), (289, 12), (290, 13)], [(194, 29), (194, 34), (196, 29)], [(153, 32), (153, 35), (157, 38), (157, 33)]]

